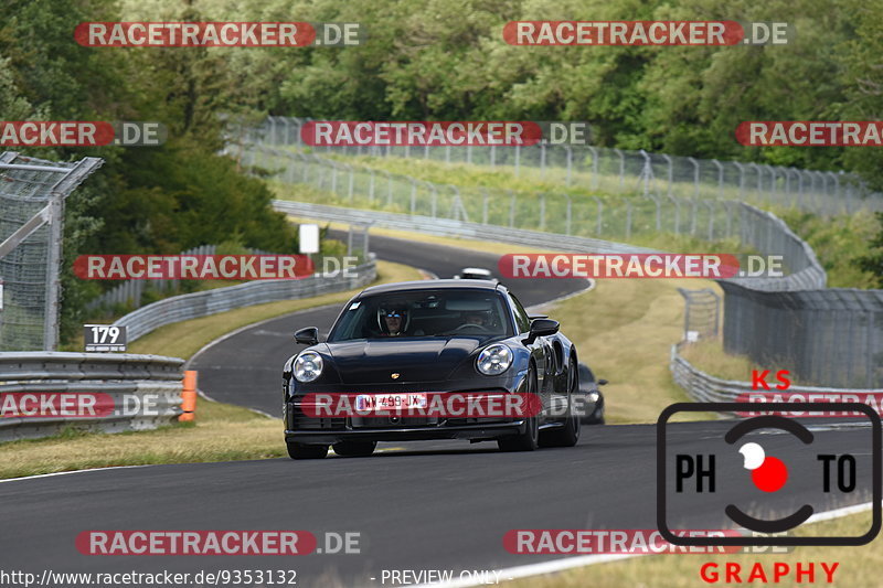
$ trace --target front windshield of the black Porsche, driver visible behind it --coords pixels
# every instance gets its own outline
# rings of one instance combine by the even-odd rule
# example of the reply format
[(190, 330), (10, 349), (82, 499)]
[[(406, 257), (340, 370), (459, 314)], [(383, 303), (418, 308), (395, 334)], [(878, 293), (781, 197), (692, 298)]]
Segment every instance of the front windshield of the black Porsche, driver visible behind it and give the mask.
[(494, 290), (416, 290), (350, 302), (330, 343), (395, 336), (511, 336), (512, 324)]

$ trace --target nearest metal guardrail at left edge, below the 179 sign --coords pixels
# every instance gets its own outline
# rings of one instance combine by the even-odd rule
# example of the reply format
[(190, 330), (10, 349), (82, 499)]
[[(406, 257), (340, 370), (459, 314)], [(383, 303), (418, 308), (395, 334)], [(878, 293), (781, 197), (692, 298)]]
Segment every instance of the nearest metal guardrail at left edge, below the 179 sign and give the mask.
[[(104, 432), (153, 429), (181, 414), (184, 360), (127, 353), (0, 353), (0, 441), (55, 435), (67, 426)], [(18, 394), (17, 394), (18, 393)], [(113, 407), (79, 416), (15, 416), (10, 400), (21, 394), (107, 395)], [(43, 393), (43, 394), (36, 394)], [(55, 405), (57, 408), (57, 404)], [(44, 408), (45, 410), (45, 408)], [(30, 410), (29, 410), (30, 411)], [(45, 410), (52, 413), (52, 410)], [(94, 415), (94, 416), (93, 416)]]

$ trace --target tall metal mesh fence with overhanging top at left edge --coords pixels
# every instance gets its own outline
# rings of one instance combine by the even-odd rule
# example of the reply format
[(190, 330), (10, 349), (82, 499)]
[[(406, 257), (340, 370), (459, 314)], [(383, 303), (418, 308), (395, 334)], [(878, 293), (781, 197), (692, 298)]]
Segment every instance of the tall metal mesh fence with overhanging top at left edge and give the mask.
[(0, 154), (0, 351), (57, 345), (64, 199), (102, 163)]

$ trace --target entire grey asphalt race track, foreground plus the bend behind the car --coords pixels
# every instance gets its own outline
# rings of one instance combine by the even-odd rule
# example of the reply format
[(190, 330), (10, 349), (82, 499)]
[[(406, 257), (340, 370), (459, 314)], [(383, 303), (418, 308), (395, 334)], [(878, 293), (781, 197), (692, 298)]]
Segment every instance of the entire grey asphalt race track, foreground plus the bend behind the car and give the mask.
[[(372, 237), (372, 249), (382, 259), (443, 277), (464, 266), (496, 266), (488, 254), (402, 243)], [(547, 280), (518, 286), (514, 290), (524, 303), (535, 304), (585, 284)], [(277, 415), (281, 364), (296, 351), (294, 331), (307, 325), (327, 331), (337, 312), (337, 307), (299, 312), (209, 348), (191, 366), (200, 371), (200, 388), (219, 400)], [(566, 333), (566, 317), (558, 318)], [(816, 424), (820, 426), (812, 427), (813, 443), (826, 452), (853, 452), (859, 460), (870, 460), (869, 428)], [(672, 425), (669, 455), (696, 453), (720, 443), (731, 426)], [(296, 570), (297, 585), (311, 587), (397, 584), (389, 579), (390, 570), (453, 570), (456, 578), (462, 570), (558, 559), (563, 556), (510, 554), (503, 536), (517, 528), (656, 528), (656, 435), (650, 425), (584, 427), (576, 448), (531, 453), (500, 453), (493, 443), (465, 441), (385, 443), (371, 458), (148, 466), (7, 481), (0, 483), (0, 560), (6, 569), (38, 576), (45, 569)], [(804, 503), (819, 511), (869, 500), (861, 491), (838, 500), (820, 495), (809, 467), (801, 466), (807, 451), (790, 436), (755, 434), (752, 440), (797, 464), (787, 496), (768, 499), (749, 487), (749, 475), (732, 451), (732, 459), (717, 463), (716, 493), (696, 494), (689, 504), (672, 500), (671, 527), (723, 528), (722, 504), (728, 502), (745, 509), (760, 504), (764, 513), (785, 515)], [(671, 495), (670, 487), (671, 481)], [(866, 487), (860, 475), (858, 488)], [(87, 556), (78, 553), (75, 538), (89, 530), (301, 530), (316, 535), (321, 549), (326, 533), (351, 532), (359, 534), (360, 553)], [(591, 574), (589, 569), (587, 585)]]

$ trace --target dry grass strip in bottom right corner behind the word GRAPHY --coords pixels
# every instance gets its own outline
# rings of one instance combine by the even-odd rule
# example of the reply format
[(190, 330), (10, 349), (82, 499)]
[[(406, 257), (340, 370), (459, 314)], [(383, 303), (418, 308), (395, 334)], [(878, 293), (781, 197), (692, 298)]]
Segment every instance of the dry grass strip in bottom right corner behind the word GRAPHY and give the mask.
[[(870, 513), (870, 512), (869, 512)], [(804, 525), (795, 531), (796, 535), (861, 535), (869, 527), (870, 514), (859, 513), (832, 521), (823, 521)], [(733, 586), (725, 580), (726, 563), (738, 564), (742, 568), (741, 580), (747, 581), (752, 567), (756, 563), (764, 565), (769, 582), (773, 582), (773, 564), (787, 563), (791, 569), (789, 578), (781, 578), (776, 586), (807, 586), (807, 582), (794, 581), (794, 569), (797, 563), (804, 567), (809, 562), (816, 563), (816, 576), (812, 584), (828, 584), (819, 563), (830, 567), (838, 563), (834, 570), (834, 586), (881, 586), (877, 564), (883, 565), (883, 547), (873, 542), (860, 547), (797, 547), (789, 554), (734, 554), (734, 555), (696, 555), (671, 554), (641, 556), (608, 564), (573, 568), (561, 574), (534, 576), (506, 582), (510, 588), (575, 588), (582, 586), (623, 586), (655, 588), (688, 588), (709, 586), (700, 577), (700, 568), (706, 563), (717, 564), (720, 584)], [(713, 568), (710, 568), (713, 569)], [(763, 584), (757, 581), (757, 584)]]

